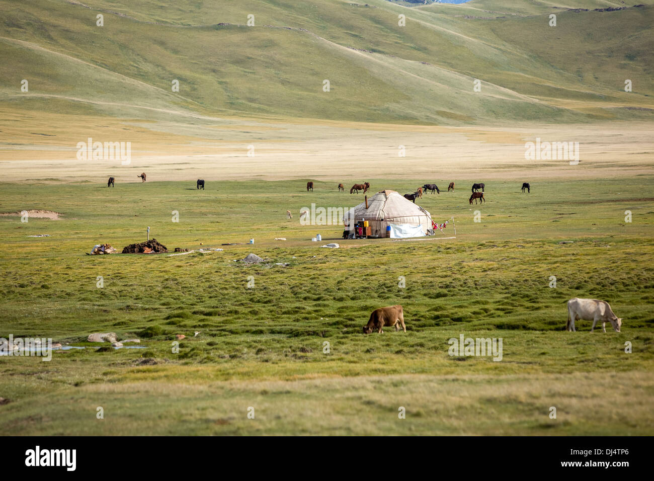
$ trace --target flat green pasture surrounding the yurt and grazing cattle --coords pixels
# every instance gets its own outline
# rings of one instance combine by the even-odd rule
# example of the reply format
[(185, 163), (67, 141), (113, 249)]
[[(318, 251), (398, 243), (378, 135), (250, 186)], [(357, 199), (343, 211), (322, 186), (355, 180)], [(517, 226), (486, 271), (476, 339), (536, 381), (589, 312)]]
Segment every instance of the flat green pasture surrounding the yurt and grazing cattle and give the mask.
[[(312, 202), (362, 202), (333, 183), (316, 182), (313, 193), (303, 181), (208, 182), (204, 191), (175, 182), (1, 184), (0, 211), (63, 216), (0, 217), (0, 336), (87, 349), (56, 352), (50, 363), (0, 357), (0, 397), (10, 400), (0, 433), (653, 434), (651, 177), (532, 181), (531, 194), (491, 182), (487, 203), (472, 207), (469, 183), (450, 180), (455, 192), (418, 203), (434, 220), (454, 216), (456, 239), (400, 242), (342, 241), (340, 226), (301, 226), (297, 213)], [(373, 192), (421, 183), (371, 180)], [(84, 255), (100, 242), (120, 251), (143, 240), (146, 226), (170, 250), (255, 244)], [(342, 248), (321, 249), (310, 241), (318, 233)], [(250, 252), (268, 262), (233, 262)], [(577, 321), (576, 333), (565, 332), (574, 296), (608, 300), (622, 331), (591, 334)], [(371, 310), (391, 304), (404, 306), (407, 332), (362, 334)], [(95, 351), (86, 342), (107, 331), (145, 348)], [(175, 334), (187, 336), (179, 353)], [(447, 340), (460, 334), (502, 338), (502, 361), (449, 356)]]

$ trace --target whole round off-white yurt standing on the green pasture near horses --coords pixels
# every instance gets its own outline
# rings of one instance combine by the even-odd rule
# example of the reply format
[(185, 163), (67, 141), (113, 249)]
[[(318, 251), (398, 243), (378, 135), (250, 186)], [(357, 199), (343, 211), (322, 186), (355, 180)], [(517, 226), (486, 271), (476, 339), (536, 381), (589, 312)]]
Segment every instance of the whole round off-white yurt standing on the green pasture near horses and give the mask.
[(432, 215), (417, 204), (413, 204), (395, 190), (377, 192), (343, 215), (343, 224), (350, 226), (366, 220), (371, 227), (370, 237), (387, 237), (390, 226), (391, 238), (422, 237), (432, 228)]

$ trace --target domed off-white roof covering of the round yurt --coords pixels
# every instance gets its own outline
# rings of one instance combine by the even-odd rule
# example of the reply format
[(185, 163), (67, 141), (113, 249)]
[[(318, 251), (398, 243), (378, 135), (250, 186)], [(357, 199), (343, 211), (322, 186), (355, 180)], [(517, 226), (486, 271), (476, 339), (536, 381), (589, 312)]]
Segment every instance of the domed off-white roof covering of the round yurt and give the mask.
[(366, 221), (384, 221), (392, 224), (426, 224), (430, 226), (432, 215), (413, 204), (396, 192), (395, 190), (381, 190), (368, 199), (346, 211), (343, 221), (349, 221), (354, 215), (354, 222), (366, 219)]

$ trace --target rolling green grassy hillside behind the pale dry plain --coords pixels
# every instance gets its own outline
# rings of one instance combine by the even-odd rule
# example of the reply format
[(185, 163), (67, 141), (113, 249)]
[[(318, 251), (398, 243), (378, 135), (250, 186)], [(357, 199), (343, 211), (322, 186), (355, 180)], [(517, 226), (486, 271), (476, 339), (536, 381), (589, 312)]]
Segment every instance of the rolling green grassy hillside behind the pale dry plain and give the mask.
[[(624, 5), (2, 1), (0, 99), (5, 109), (92, 109), (121, 118), (642, 120), (651, 112), (624, 107), (654, 108), (648, 4), (596, 12)], [(548, 25), (552, 12), (557, 27)], [(20, 92), (22, 79), (29, 92)], [(179, 92), (171, 91), (173, 79)], [(325, 79), (330, 92), (322, 90)], [(474, 79), (481, 92), (473, 92)], [(633, 92), (624, 91), (625, 79)]]

